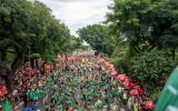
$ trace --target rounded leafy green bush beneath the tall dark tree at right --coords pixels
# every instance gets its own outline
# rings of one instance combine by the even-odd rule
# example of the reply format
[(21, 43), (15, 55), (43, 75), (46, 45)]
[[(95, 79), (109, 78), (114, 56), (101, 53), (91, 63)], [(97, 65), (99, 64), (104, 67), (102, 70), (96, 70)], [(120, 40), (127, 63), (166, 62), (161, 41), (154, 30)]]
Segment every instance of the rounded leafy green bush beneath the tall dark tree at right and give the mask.
[(170, 56), (158, 50), (137, 54), (131, 59), (131, 63), (132, 78), (139, 80), (148, 92), (158, 87), (162, 77), (169, 75), (176, 67)]

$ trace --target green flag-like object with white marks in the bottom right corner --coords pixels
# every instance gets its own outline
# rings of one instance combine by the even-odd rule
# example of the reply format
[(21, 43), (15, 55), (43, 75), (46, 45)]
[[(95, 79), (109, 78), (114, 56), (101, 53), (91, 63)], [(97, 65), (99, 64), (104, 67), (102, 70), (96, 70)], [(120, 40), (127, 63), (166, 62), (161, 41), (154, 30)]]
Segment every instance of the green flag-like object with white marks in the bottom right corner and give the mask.
[(178, 67), (169, 77), (155, 111), (178, 111)]

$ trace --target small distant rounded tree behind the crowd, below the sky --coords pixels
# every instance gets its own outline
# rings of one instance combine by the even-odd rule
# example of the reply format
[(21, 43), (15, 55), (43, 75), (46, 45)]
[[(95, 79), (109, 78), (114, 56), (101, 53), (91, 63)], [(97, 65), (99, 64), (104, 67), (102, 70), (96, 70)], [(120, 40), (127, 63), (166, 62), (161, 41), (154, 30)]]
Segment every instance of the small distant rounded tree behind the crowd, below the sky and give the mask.
[(81, 41), (89, 43), (98, 52), (112, 53), (112, 38), (108, 33), (108, 27), (102, 24), (87, 26), (78, 30)]

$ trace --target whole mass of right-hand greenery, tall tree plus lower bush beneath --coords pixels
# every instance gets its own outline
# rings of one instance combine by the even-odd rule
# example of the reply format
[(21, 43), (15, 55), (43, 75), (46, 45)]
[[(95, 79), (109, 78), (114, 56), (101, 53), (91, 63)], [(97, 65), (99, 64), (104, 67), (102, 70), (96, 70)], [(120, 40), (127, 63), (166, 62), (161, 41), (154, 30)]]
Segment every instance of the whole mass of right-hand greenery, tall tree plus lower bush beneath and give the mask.
[(160, 80), (177, 63), (178, 2), (113, 0), (108, 8), (106, 23), (115, 37), (113, 53), (125, 52), (113, 62), (121, 73), (138, 80), (151, 94), (157, 93)]

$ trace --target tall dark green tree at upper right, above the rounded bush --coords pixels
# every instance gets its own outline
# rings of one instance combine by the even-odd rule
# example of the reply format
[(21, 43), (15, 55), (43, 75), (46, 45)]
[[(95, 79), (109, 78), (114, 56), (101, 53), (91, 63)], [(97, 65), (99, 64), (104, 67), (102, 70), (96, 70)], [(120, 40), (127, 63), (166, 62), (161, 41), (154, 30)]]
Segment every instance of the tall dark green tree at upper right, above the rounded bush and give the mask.
[(111, 32), (125, 38), (130, 51), (167, 49), (175, 58), (178, 47), (178, 2), (175, 0), (115, 0), (107, 14)]

